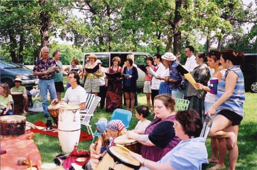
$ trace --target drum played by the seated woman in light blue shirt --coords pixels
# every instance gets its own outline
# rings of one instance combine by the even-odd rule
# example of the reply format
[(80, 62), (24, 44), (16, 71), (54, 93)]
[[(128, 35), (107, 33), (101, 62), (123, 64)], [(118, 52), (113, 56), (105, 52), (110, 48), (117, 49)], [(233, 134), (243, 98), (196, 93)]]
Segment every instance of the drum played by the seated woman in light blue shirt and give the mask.
[(128, 151), (123, 146), (112, 146), (107, 149), (107, 153), (99, 162), (96, 170), (132, 170), (139, 169), (140, 163), (134, 157), (129, 155)]

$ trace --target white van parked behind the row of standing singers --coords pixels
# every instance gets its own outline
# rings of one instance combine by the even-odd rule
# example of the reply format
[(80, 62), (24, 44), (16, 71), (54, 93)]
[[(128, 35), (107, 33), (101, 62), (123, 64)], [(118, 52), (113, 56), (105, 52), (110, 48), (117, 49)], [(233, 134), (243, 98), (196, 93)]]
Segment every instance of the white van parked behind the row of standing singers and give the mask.
[[(126, 56), (128, 54), (132, 55), (133, 63), (136, 65), (144, 65), (146, 66), (146, 57), (152, 57), (148, 53), (141, 53), (141, 52), (97, 52), (97, 53), (85, 53), (84, 54), (84, 60), (83, 60), (83, 66), (85, 66), (87, 56), (90, 54), (95, 54), (98, 59), (102, 61), (102, 67), (109, 68), (112, 65), (112, 59), (116, 56), (120, 57), (121, 63), (120, 67), (124, 65), (124, 62), (126, 61)], [(137, 88), (142, 90), (144, 86), (144, 72), (137, 68), (138, 71), (138, 79), (137, 79)]]

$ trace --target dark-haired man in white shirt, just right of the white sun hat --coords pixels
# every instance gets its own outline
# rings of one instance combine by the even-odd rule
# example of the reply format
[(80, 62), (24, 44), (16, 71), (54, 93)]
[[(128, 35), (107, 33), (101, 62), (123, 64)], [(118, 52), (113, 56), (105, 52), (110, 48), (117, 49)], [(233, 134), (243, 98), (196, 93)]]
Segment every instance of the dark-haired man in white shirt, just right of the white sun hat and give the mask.
[(195, 61), (194, 48), (192, 46), (186, 46), (185, 55), (188, 57), (185, 64), (185, 69), (191, 72), (194, 70), (195, 67), (198, 66)]

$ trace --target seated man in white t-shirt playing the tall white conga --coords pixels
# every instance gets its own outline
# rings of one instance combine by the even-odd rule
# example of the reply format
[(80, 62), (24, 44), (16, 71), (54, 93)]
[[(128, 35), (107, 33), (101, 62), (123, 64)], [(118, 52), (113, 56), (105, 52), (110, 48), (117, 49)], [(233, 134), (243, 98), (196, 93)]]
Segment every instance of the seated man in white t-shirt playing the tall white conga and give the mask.
[[(68, 74), (68, 82), (71, 85), (70, 88), (66, 90), (63, 101), (68, 104), (77, 104), (81, 110), (86, 108), (86, 91), (82, 88), (80, 84), (80, 76), (76, 71), (71, 71)], [(58, 99), (53, 99), (51, 103), (57, 102)]]

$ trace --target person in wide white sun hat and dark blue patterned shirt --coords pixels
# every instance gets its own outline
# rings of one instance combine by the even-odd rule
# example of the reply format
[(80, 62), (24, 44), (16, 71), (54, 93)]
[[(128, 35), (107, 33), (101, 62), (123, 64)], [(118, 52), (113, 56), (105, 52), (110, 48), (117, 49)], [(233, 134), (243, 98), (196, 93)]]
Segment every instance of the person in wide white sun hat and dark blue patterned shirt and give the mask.
[(177, 71), (176, 67), (179, 62), (176, 61), (177, 57), (173, 53), (167, 52), (161, 56), (162, 59), (168, 60), (170, 65), (170, 77), (164, 79), (168, 82), (168, 87), (171, 89), (172, 98), (182, 99), (185, 93), (186, 84), (181, 74)]

